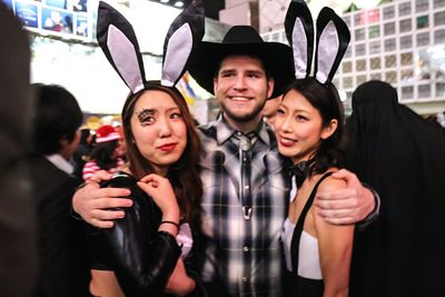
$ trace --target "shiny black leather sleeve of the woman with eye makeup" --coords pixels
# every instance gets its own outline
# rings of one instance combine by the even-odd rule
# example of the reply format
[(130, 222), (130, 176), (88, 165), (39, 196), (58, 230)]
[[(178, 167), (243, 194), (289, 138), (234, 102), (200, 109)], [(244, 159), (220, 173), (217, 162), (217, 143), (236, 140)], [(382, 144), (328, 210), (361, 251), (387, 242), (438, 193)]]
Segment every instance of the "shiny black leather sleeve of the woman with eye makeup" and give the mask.
[(103, 186), (128, 188), (134, 200), (125, 218), (103, 230), (120, 287), (128, 297), (162, 296), (180, 256), (176, 238), (157, 230), (160, 210), (134, 178), (119, 175)]

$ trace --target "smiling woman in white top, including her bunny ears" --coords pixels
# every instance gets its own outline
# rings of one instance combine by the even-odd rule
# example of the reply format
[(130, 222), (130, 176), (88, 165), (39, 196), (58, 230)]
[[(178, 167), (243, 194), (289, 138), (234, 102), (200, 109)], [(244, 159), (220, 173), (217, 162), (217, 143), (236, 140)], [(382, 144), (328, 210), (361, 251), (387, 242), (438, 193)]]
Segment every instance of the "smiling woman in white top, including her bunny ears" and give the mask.
[(293, 1), (286, 16), (286, 33), (294, 50), (296, 80), (285, 92), (275, 120), (281, 155), (291, 159), (298, 194), (291, 197), (284, 225), (287, 271), (285, 296), (347, 296), (354, 226), (327, 224), (315, 212), (318, 190), (345, 189), (338, 170), (337, 146), (344, 116), (330, 82), (349, 41), (349, 30), (329, 8), (317, 19), (314, 77), (314, 26), (307, 6)]

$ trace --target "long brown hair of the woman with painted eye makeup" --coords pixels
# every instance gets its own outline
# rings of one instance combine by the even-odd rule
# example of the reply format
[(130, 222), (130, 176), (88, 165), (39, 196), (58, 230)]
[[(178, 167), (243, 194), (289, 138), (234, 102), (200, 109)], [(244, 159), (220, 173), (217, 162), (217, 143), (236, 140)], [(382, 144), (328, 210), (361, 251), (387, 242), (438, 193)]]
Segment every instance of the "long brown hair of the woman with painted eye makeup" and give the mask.
[(187, 146), (179, 160), (170, 165), (167, 178), (175, 189), (184, 220), (192, 224), (195, 228), (200, 228), (202, 184), (197, 166), (201, 145), (186, 100), (177, 89), (160, 86), (158, 81), (151, 81), (146, 89), (128, 96), (122, 109), (122, 126), (130, 171), (137, 179), (155, 172), (150, 161), (137, 148), (130, 123), (131, 116), (135, 112), (135, 105), (147, 90), (159, 90), (168, 93), (182, 115), (187, 128)]

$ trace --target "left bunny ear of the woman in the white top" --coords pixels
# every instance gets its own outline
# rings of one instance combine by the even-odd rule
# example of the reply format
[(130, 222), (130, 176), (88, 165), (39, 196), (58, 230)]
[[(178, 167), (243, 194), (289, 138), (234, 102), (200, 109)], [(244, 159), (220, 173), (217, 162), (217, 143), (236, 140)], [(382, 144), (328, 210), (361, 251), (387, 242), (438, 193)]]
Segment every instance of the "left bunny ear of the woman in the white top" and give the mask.
[(314, 20), (305, 1), (291, 1), (287, 10), (285, 29), (294, 51), (295, 77), (310, 73), (314, 55)]

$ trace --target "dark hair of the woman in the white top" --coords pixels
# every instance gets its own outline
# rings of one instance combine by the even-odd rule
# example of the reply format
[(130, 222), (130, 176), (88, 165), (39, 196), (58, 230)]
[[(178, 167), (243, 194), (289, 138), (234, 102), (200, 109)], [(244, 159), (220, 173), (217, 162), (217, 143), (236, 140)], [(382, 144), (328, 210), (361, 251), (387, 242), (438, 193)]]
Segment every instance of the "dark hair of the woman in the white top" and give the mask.
[(330, 82), (322, 85), (315, 78), (308, 77), (295, 80), (287, 91), (296, 90), (301, 93), (322, 116), (325, 128), (330, 120), (338, 121), (337, 129), (332, 136), (320, 140), (318, 149), (309, 157), (306, 170), (308, 175), (324, 174), (330, 167), (342, 166), (342, 152), (338, 148), (343, 135), (344, 110), (337, 89)]

